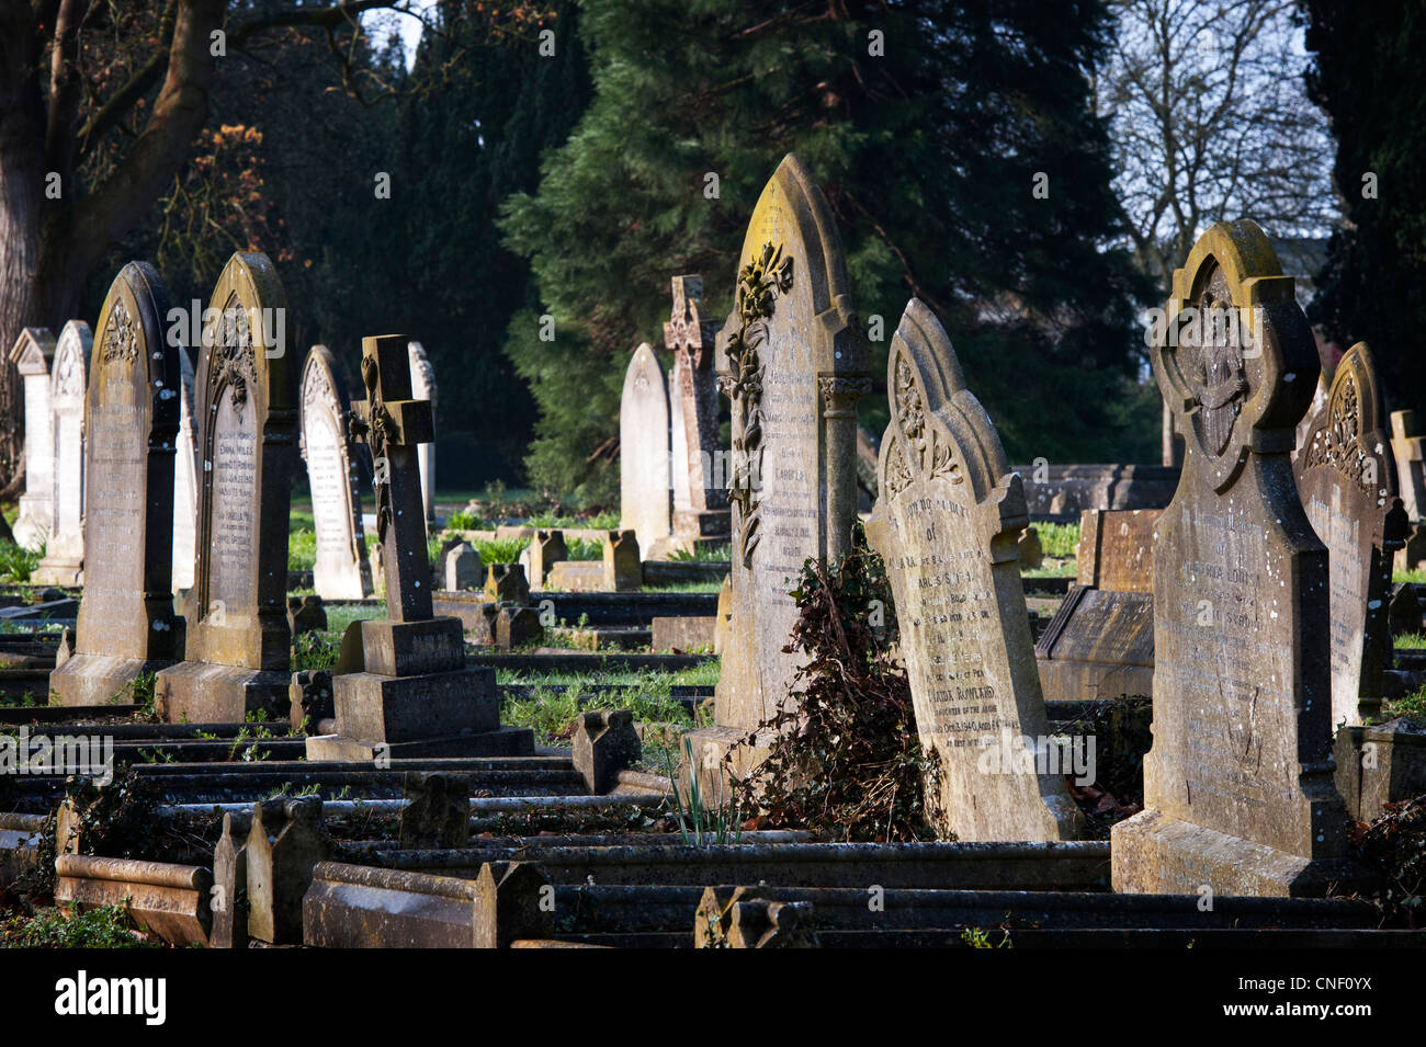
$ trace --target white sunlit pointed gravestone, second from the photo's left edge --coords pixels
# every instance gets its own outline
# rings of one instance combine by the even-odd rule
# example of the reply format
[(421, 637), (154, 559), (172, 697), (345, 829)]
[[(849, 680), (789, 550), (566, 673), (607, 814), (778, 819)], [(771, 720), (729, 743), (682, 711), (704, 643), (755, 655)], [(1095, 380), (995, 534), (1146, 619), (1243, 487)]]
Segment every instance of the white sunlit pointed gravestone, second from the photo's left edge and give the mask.
[(93, 345), (88, 323), (70, 321), (54, 346), (50, 370), (54, 526), (44, 558), (30, 574), (34, 585), (78, 585), (84, 577), (84, 392)]

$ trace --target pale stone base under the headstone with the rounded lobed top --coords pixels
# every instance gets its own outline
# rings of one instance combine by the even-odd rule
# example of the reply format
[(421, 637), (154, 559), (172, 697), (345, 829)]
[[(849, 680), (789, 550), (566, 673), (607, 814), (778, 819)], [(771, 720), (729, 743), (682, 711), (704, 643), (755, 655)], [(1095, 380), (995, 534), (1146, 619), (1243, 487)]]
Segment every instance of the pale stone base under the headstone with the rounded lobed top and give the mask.
[(1111, 830), (1114, 890), (1121, 895), (1325, 897), (1366, 885), (1346, 858), (1302, 858), (1229, 836), (1161, 811), (1141, 811)]

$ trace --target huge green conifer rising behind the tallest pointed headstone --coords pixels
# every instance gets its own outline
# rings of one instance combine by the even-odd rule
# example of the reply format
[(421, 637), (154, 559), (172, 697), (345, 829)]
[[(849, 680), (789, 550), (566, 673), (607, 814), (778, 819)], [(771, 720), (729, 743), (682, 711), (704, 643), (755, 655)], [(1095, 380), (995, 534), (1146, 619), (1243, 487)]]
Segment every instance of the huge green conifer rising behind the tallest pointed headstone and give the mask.
[[(1132, 382), (1141, 283), (1105, 246), (1117, 207), (1089, 104), (1108, 31), (1099, 0), (1054, 17), (975, 0), (586, 0), (595, 100), (503, 221), (556, 330), (542, 342), (530, 311), (506, 345), (540, 409), (532, 477), (610, 493), (626, 353), (662, 342), (676, 274), (703, 274), (726, 312), (753, 204), (789, 151), (827, 194), (858, 312), (888, 340), (908, 295), (931, 305), (1014, 457), (1152, 460), (1155, 400)], [(863, 417), (880, 430), (884, 399)]]

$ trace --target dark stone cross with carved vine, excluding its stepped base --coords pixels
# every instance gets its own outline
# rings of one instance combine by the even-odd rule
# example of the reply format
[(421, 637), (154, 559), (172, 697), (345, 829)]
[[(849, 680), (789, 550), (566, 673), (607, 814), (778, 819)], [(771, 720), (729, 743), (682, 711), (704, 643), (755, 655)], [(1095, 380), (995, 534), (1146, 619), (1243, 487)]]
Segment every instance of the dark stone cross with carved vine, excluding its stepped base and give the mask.
[(416, 444), (431, 443), (431, 402), (411, 395), (405, 335), (376, 335), (361, 343), (366, 399), (354, 405), (352, 434), (371, 449), (376, 477), (376, 540), (386, 571), (386, 614), (424, 621), (431, 610), (431, 561)]

